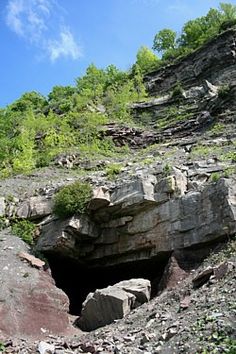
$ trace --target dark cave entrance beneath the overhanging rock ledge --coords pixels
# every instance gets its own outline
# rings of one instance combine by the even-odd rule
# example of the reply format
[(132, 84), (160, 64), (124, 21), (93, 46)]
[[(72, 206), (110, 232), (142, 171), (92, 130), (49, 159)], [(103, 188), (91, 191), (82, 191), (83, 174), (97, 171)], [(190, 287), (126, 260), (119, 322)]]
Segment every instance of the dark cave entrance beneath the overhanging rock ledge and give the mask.
[(70, 258), (47, 255), (52, 276), (56, 286), (69, 297), (70, 314), (80, 315), (82, 303), (89, 292), (113, 285), (131, 278), (145, 278), (152, 283), (152, 295), (155, 295), (157, 284), (162, 277), (170, 254), (164, 254), (130, 263), (109, 267), (88, 267)]

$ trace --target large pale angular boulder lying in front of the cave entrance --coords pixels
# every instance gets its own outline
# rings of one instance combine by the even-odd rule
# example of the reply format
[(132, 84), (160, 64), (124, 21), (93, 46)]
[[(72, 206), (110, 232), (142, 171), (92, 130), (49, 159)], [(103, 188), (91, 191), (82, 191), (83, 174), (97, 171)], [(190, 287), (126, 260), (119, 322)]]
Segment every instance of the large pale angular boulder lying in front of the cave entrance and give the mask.
[(90, 293), (83, 303), (80, 328), (91, 331), (123, 318), (133, 308), (150, 299), (151, 284), (146, 279), (131, 279)]

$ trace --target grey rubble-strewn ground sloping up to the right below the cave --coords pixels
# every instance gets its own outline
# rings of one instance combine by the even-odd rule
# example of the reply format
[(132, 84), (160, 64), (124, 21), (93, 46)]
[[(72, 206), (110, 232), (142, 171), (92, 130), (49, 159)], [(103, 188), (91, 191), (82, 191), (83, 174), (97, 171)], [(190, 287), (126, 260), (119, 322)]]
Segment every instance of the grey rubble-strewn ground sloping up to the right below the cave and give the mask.
[(235, 269), (236, 243), (232, 239), (218, 246), (218, 251), (175, 289), (166, 290), (114, 324), (67, 337), (45, 335), (41, 341), (9, 339), (0, 350), (21, 354), (233, 354)]

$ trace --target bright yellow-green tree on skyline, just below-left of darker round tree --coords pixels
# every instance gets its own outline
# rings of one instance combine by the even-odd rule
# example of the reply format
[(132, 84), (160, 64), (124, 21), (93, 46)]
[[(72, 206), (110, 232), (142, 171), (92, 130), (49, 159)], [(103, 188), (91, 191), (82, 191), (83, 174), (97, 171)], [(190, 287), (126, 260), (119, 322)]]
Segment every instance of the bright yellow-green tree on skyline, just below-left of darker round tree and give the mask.
[(160, 59), (149, 48), (142, 46), (136, 55), (136, 64), (143, 74), (155, 70), (160, 64)]

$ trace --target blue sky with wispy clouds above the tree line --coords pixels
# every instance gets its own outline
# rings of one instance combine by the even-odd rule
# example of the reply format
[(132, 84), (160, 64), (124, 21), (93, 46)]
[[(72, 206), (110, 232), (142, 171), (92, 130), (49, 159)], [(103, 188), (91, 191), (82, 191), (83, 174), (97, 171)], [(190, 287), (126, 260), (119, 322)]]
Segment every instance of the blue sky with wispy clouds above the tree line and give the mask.
[[(227, 1), (225, 1), (227, 2)], [(228, 1), (236, 4), (235, 1)], [(0, 107), (26, 91), (73, 85), (86, 67), (128, 69), (162, 28), (218, 7), (215, 0), (0, 0)]]

